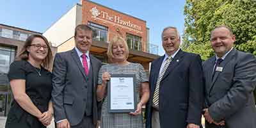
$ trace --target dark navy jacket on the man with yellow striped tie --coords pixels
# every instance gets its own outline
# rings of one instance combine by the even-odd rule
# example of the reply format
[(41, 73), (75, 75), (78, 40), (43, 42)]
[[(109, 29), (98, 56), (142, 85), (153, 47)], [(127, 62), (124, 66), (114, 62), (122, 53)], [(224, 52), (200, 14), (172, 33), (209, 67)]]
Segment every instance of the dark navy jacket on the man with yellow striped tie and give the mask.
[[(146, 108), (146, 127), (151, 128), (152, 97), (164, 56), (150, 68), (150, 98)], [(204, 104), (204, 80), (199, 55), (179, 51), (164, 73), (159, 86), (159, 120), (163, 128), (185, 128), (188, 123), (201, 124)]]

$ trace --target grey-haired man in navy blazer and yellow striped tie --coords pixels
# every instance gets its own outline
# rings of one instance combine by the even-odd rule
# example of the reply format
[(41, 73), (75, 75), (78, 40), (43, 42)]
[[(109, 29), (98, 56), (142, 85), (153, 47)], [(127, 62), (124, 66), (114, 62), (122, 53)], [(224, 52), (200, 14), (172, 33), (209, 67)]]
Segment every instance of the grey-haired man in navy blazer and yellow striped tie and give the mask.
[(199, 55), (182, 51), (176, 28), (162, 33), (164, 56), (150, 68), (147, 128), (198, 128), (204, 104), (204, 80)]

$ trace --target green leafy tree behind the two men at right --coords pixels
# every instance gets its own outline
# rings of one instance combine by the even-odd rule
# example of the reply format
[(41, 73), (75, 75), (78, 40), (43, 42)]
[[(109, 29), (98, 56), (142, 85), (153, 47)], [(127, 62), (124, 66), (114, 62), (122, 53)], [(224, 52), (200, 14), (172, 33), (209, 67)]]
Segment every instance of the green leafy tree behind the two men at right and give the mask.
[(203, 60), (214, 55), (210, 33), (214, 26), (227, 25), (236, 35), (235, 47), (256, 55), (255, 0), (186, 0), (182, 47)]

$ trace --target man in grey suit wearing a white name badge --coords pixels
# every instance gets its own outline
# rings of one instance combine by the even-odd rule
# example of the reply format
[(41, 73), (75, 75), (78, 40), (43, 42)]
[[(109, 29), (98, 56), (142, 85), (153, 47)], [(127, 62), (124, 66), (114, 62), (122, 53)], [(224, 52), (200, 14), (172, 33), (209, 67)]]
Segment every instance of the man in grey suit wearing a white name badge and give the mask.
[(233, 48), (235, 40), (227, 26), (217, 26), (211, 32), (215, 56), (203, 64), (207, 128), (256, 127), (256, 59)]

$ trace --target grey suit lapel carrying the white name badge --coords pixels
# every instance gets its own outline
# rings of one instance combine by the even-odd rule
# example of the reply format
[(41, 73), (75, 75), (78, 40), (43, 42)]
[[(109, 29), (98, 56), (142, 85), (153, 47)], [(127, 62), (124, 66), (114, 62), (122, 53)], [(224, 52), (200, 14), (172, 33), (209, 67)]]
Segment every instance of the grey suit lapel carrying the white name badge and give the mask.
[[(235, 55), (236, 49), (232, 49), (232, 51), (229, 52), (229, 54), (226, 56), (226, 58), (220, 63), (220, 67), (223, 67), (223, 69), (225, 68), (225, 66), (227, 65), (227, 63), (232, 60), (232, 57)], [(216, 79), (218, 78), (218, 76), (221, 74), (221, 72), (215, 72), (215, 75), (212, 79), (212, 83), (211, 83), (211, 89), (209, 92), (211, 92), (212, 87), (214, 86), (214, 83), (216, 82)]]

